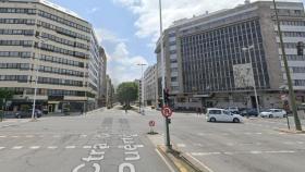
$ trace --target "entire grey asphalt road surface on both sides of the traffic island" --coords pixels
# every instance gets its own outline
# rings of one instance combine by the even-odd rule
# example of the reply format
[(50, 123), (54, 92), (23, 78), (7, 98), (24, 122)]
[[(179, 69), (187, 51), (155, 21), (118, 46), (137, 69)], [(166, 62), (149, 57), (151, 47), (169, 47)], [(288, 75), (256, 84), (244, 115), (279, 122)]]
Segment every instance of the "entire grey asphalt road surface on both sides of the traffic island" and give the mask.
[[(159, 136), (147, 136), (150, 120)], [(163, 143), (163, 126), (160, 112), (148, 109), (146, 115), (105, 110), (3, 123), (0, 171), (170, 172), (155, 146)], [(303, 172), (305, 135), (277, 130), (285, 127), (285, 119), (208, 123), (204, 115), (174, 113), (170, 132), (173, 146), (209, 172)]]

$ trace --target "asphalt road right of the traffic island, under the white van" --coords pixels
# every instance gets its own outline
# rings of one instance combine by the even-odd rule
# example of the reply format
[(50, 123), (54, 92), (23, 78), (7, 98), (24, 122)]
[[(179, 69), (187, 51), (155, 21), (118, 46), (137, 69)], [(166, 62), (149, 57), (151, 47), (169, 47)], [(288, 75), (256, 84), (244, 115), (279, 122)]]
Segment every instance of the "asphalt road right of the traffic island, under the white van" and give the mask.
[(285, 119), (208, 123), (204, 115), (174, 113), (170, 130), (173, 146), (210, 172), (304, 172), (305, 135), (278, 131), (285, 127)]

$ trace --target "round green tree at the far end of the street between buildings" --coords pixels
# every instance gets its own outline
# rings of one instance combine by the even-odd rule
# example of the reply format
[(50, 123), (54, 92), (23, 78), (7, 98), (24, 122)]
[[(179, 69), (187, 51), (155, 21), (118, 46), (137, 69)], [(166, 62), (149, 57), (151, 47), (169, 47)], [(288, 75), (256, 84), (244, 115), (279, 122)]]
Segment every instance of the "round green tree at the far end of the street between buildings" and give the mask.
[(130, 103), (137, 99), (138, 86), (134, 82), (121, 83), (118, 87), (117, 93), (118, 100), (121, 103), (124, 103), (125, 106), (130, 107)]

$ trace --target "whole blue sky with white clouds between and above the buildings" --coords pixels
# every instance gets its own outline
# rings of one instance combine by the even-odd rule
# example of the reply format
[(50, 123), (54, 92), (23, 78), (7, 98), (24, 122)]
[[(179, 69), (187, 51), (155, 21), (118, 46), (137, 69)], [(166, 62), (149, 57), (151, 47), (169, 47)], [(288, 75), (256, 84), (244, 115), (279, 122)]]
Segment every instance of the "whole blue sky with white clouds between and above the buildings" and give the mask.
[[(108, 74), (114, 85), (139, 78), (137, 63), (156, 63), (154, 49), (159, 37), (159, 0), (49, 1), (76, 12), (93, 24), (101, 46), (106, 48)], [(242, 3), (244, 0), (162, 0), (163, 27), (169, 27), (175, 20)]]

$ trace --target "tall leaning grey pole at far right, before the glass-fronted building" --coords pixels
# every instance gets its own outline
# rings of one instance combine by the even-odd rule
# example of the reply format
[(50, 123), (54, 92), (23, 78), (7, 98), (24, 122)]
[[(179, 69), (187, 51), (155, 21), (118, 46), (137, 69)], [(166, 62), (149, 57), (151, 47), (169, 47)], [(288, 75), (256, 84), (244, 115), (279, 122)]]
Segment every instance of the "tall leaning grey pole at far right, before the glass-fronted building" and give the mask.
[(285, 73), (286, 73), (289, 97), (290, 97), (290, 101), (291, 101), (291, 106), (292, 106), (295, 130), (296, 131), (302, 131), (302, 125), (301, 125), (301, 122), (300, 122), (300, 119), (298, 119), (298, 115), (297, 115), (296, 103), (295, 103), (295, 95), (294, 95), (292, 81), (291, 81), (291, 75), (290, 75), (290, 70), (289, 70), (289, 65), (288, 65), (288, 60), (286, 60), (286, 54), (285, 54), (285, 49), (284, 49), (283, 37), (282, 37), (282, 32), (281, 32), (281, 26), (280, 26), (280, 21), (279, 21), (279, 14), (278, 14), (276, 0), (273, 0), (273, 7), (274, 7), (276, 19), (277, 19), (277, 24), (278, 24), (278, 33), (279, 33), (280, 44), (281, 44), (281, 49), (282, 49), (282, 57), (283, 57), (283, 62), (284, 62), (284, 67), (285, 67)]

